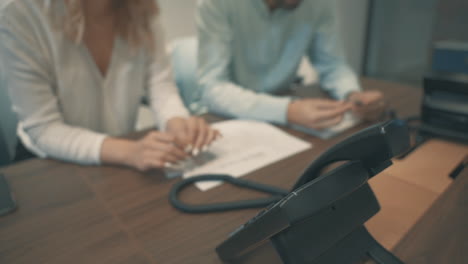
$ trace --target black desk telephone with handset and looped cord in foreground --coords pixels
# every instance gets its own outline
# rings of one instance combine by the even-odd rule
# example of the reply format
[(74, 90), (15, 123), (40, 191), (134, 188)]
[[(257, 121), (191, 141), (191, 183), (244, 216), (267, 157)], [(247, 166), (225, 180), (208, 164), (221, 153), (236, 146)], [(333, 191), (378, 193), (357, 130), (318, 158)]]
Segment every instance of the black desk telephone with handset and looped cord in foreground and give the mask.
[[(368, 233), (364, 223), (380, 210), (367, 181), (391, 166), (391, 159), (409, 146), (407, 126), (392, 120), (331, 147), (305, 170), (290, 192), (221, 176), (221, 180), (234, 184), (240, 180), (241, 186), (273, 195), (254, 202), (205, 207), (188, 206), (177, 199), (177, 192), (187, 184), (217, 178), (208, 175), (176, 184), (170, 200), (176, 208), (191, 213), (266, 207), (216, 248), (226, 263), (354, 264), (371, 258), (380, 264), (402, 264)], [(321, 174), (338, 161), (345, 162)]]

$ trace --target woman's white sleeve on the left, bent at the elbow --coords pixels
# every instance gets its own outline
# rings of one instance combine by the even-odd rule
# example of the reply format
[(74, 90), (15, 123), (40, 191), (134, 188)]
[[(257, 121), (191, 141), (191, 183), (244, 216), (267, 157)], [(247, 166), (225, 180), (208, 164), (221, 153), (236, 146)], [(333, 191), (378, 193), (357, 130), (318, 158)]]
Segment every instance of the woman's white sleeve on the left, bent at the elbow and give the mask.
[[(18, 136), (40, 157), (99, 164), (106, 135), (65, 124), (52, 89), (51, 61), (44, 55), (41, 34), (24, 10), (8, 10), (0, 19), (0, 54), (6, 86), (19, 119)], [(47, 48), (47, 47), (46, 47)]]

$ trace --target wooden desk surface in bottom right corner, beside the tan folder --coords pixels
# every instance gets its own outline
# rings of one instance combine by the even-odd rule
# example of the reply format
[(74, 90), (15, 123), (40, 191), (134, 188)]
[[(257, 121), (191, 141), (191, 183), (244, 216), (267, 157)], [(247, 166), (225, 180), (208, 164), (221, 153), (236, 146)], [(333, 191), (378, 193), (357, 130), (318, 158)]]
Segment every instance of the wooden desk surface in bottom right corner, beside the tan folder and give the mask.
[(468, 168), (398, 243), (395, 254), (412, 264), (468, 262)]

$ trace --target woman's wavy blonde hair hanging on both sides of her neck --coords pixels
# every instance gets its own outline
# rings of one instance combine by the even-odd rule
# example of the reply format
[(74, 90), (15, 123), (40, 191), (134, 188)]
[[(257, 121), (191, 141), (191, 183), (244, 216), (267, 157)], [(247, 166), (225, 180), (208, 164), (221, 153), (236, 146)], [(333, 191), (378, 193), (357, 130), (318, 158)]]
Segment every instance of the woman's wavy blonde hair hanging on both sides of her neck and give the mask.
[[(83, 14), (83, 0), (50, 0), (49, 11), (55, 23), (67, 37), (79, 44), (83, 41), (86, 21)], [(65, 2), (65, 12), (54, 12), (58, 4)], [(120, 37), (135, 49), (154, 50), (154, 18), (159, 13), (155, 0), (111, 0), (115, 12), (116, 28)], [(63, 6), (62, 6), (63, 7)], [(63, 8), (62, 8), (63, 9)]]

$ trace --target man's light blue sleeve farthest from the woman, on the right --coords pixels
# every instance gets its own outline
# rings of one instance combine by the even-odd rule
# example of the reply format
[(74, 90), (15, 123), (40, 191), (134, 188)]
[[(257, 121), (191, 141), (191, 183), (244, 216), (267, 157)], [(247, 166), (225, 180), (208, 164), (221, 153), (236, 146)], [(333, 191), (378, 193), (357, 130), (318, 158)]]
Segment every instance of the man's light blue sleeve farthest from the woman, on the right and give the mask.
[(335, 2), (324, 3), (308, 55), (319, 74), (322, 88), (332, 97), (341, 100), (361, 88), (341, 47)]

